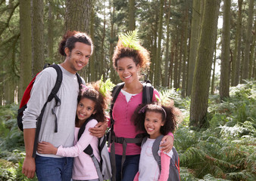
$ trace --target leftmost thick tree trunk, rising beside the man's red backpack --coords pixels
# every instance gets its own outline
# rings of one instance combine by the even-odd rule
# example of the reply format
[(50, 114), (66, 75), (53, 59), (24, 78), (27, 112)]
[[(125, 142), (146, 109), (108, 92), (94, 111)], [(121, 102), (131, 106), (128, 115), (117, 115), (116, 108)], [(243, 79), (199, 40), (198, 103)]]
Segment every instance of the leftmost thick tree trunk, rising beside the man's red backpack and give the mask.
[(19, 100), (32, 78), (30, 0), (20, 0), (20, 90)]

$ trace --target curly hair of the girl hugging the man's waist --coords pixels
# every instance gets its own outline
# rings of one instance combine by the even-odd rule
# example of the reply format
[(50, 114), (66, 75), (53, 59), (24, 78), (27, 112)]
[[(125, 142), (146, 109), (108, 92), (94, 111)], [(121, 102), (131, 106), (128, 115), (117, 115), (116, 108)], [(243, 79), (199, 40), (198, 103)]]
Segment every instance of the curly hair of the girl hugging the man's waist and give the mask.
[[(92, 82), (86, 84), (80, 90), (80, 94), (77, 97), (77, 103), (80, 102), (83, 98), (94, 101), (96, 113), (92, 115), (92, 118), (95, 118), (98, 122), (106, 121), (105, 110), (108, 109), (108, 100), (110, 99), (109, 93), (106, 92), (105, 95), (101, 94), (100, 91), (100, 81)], [(76, 115), (76, 124), (78, 123), (78, 118)]]

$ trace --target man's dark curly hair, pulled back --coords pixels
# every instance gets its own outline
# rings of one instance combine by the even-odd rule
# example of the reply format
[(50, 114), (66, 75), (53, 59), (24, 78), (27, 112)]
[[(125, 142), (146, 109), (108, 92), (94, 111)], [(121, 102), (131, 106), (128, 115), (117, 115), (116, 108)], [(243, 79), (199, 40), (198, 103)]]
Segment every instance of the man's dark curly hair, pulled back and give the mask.
[(67, 31), (66, 34), (62, 37), (62, 40), (59, 44), (59, 53), (67, 57), (64, 51), (65, 48), (68, 48), (70, 51), (72, 51), (75, 47), (76, 42), (84, 43), (91, 46), (91, 49), (93, 51), (92, 39), (89, 37), (89, 35), (87, 35), (85, 32)]

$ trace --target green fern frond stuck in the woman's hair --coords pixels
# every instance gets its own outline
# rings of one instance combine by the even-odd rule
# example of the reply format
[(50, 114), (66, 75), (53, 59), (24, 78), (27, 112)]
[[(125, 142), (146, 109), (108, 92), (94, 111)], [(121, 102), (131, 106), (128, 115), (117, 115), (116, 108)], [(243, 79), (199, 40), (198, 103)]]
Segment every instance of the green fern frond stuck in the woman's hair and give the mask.
[(139, 37), (137, 32), (137, 30), (133, 30), (130, 32), (126, 32), (126, 34), (120, 34), (119, 37), (124, 47), (132, 48), (136, 51), (138, 51), (141, 48), (139, 45)]

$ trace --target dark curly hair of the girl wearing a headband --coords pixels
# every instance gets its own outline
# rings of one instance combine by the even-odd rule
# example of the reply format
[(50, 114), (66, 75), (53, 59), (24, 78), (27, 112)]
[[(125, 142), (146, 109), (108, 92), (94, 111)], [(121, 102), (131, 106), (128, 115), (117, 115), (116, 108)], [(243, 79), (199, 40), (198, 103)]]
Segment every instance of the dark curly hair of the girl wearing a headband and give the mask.
[(163, 135), (173, 132), (176, 128), (177, 120), (175, 115), (175, 109), (173, 106), (164, 106), (160, 103), (154, 102), (150, 104), (140, 104), (133, 113), (133, 124), (136, 126), (136, 130), (145, 131), (145, 113), (146, 112), (158, 112), (161, 114), (164, 126), (161, 126), (160, 132)]

